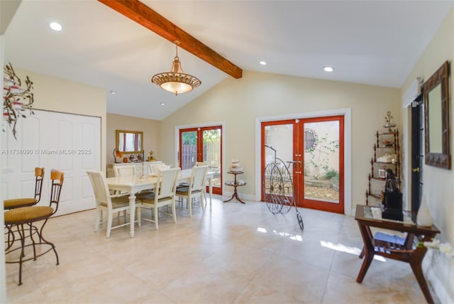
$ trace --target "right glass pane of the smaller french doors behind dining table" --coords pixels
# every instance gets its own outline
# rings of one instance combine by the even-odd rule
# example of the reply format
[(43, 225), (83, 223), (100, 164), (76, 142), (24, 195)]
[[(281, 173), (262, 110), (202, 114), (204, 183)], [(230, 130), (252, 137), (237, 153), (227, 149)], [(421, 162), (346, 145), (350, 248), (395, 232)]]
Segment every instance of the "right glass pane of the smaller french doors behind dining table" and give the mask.
[(221, 187), (221, 128), (204, 130), (204, 163), (208, 163), (209, 170), (214, 171), (211, 179), (213, 187)]

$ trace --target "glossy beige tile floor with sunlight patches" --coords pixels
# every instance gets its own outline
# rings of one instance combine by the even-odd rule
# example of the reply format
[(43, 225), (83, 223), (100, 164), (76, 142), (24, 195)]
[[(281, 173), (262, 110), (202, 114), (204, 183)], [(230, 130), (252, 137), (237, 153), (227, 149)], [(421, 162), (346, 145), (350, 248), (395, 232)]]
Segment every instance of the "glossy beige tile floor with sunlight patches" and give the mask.
[[(143, 210), (145, 212), (145, 210)], [(260, 202), (178, 210), (175, 224), (93, 232), (94, 210), (50, 219), (52, 252), (6, 265), (8, 303), (425, 303), (409, 264), (372, 262), (362, 284), (353, 217), (302, 209), (272, 215)], [(145, 214), (143, 215), (145, 216)], [(7, 256), (8, 259), (8, 256)]]

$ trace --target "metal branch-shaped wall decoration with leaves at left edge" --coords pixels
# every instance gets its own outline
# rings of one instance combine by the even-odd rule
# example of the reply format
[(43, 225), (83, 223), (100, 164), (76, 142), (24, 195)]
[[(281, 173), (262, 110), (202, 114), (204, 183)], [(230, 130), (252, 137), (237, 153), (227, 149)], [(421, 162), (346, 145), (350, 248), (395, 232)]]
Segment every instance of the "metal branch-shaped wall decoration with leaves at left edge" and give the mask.
[[(19, 117), (26, 118), (26, 110), (33, 112), (32, 106), (33, 98), (33, 82), (26, 76), (26, 89), (22, 89), (21, 79), (16, 75), (13, 70), (13, 65), (8, 63), (4, 67), (4, 99), (3, 99), (3, 116), (4, 121), (8, 122), (9, 127), (13, 131), (13, 136), (16, 137), (16, 124)], [(3, 129), (5, 131), (5, 129)]]

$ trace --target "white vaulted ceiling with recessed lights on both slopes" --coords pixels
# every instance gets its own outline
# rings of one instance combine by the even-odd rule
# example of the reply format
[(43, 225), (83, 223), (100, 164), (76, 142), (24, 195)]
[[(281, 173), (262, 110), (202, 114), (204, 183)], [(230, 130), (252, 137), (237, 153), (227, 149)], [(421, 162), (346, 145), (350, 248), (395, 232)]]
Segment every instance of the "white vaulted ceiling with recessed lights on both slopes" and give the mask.
[[(454, 6), (436, 0), (143, 3), (243, 70), (384, 87), (402, 86)], [(63, 30), (51, 31), (51, 21)], [(175, 45), (94, 0), (23, 0), (4, 41), (13, 67), (103, 87), (107, 112), (115, 114), (164, 119), (230, 77), (179, 49), (184, 72), (202, 84), (178, 96), (165, 92), (150, 78), (170, 70)], [(323, 72), (325, 65), (334, 72)]]

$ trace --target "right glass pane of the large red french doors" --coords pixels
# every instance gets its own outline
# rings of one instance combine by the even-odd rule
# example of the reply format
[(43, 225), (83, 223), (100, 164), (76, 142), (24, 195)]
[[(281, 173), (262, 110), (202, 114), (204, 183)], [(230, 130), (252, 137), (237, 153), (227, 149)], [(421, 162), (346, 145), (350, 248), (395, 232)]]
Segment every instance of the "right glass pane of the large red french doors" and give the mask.
[(339, 121), (304, 124), (304, 198), (339, 202)]

